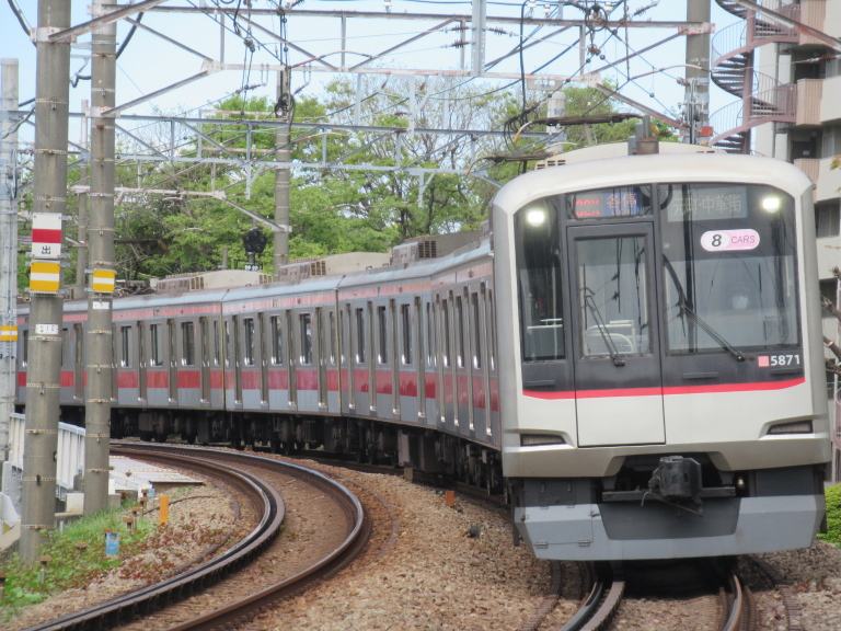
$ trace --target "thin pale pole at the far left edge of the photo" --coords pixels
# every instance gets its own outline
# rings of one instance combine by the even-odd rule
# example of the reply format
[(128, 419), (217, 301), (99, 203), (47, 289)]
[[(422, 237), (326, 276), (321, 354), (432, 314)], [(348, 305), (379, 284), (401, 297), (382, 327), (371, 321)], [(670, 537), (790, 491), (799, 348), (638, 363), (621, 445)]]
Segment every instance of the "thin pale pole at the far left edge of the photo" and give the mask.
[[(18, 170), (18, 59), (0, 62), (0, 462), (9, 457), (9, 421), (18, 386), (18, 208), (14, 182)], [(1, 471), (1, 470), (0, 470)], [(0, 473), (1, 475), (2, 473)]]

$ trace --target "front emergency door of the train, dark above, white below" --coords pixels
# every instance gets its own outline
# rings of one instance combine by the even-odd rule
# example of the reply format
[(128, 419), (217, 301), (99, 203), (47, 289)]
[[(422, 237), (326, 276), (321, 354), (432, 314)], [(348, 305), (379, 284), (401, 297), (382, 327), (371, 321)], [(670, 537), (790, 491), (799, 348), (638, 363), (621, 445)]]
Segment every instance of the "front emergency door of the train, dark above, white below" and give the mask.
[(666, 440), (650, 223), (569, 227), (578, 444)]

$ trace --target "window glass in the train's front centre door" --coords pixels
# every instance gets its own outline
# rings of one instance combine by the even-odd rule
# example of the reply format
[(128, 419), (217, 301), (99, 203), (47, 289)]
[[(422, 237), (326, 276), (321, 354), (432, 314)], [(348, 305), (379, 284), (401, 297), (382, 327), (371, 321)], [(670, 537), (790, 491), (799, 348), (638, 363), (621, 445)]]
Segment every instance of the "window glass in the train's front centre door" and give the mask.
[(652, 352), (645, 237), (576, 241), (585, 357)]

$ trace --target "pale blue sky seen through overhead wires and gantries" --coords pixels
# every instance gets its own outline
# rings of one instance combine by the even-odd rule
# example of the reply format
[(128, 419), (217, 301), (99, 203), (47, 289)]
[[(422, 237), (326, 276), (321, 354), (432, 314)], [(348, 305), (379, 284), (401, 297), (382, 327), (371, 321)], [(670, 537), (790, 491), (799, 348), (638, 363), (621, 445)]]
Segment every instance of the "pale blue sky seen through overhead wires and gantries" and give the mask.
[[(68, 0), (70, 1), (70, 0)], [(37, 2), (35, 0), (14, 0), (21, 8), (26, 22), (32, 26), (37, 22)], [(203, 7), (224, 4), (237, 7), (241, 0), (169, 0), (161, 7)], [(519, 2), (510, 0), (491, 1), (487, 4), (488, 15), (505, 15), (517, 18), (521, 11), (533, 12), (542, 16), (546, 11), (551, 14), (557, 10), (557, 2), (533, 2), (529, 7), (526, 0), (525, 8)], [(631, 11), (653, 4), (652, 0), (629, 0)], [(288, 5), (286, 3), (285, 5)], [(275, 9), (277, 2), (269, 0), (254, 0), (255, 9)], [(717, 30), (736, 22), (737, 19), (721, 10), (714, 2), (712, 22)], [(296, 5), (303, 11), (370, 11), (381, 13), (383, 18), (388, 13), (436, 13), (440, 18), (425, 21), (407, 20), (360, 20), (350, 19), (346, 23), (345, 61), (347, 66), (358, 64), (366, 59), (366, 55), (376, 55), (382, 50), (396, 46), (408, 38), (416, 41), (398, 48), (393, 54), (384, 56), (371, 64), (371, 66), (387, 66), (404, 70), (412, 69), (456, 69), (461, 62), (461, 54), (464, 50), (466, 64), (470, 64), (470, 48), (453, 46), (459, 41), (470, 38), (470, 33), (450, 30), (438, 35), (419, 36), (425, 30), (439, 24), (442, 19), (451, 13), (470, 14), (471, 4), (457, 0), (307, 0)], [(88, 4), (80, 0), (72, 2), (72, 24), (80, 24), (89, 20)], [(246, 11), (241, 7), (241, 11)], [(562, 9), (566, 19), (579, 19), (581, 12), (573, 7)], [(619, 16), (617, 11), (613, 15)], [(686, 18), (686, 0), (660, 0), (652, 5), (637, 19), (653, 21), (679, 21)], [(326, 72), (308, 72), (304, 64), (309, 57), (322, 57), (334, 66), (341, 62), (342, 49), (342, 23), (338, 19), (314, 18), (296, 14), (288, 15), (281, 23), (277, 15), (260, 19), (258, 23), (264, 30), (252, 27), (245, 20), (238, 20), (237, 25), (229, 19), (226, 22), (224, 37), (221, 36), (220, 25), (211, 18), (203, 14), (176, 14), (176, 13), (147, 13), (142, 24), (154, 28), (164, 37), (155, 36), (143, 30), (138, 30), (126, 49), (117, 60), (117, 103), (126, 103), (142, 96), (143, 94), (165, 88), (176, 81), (181, 81), (199, 72), (203, 68), (201, 56), (219, 60), (222, 55), (226, 62), (247, 66), (247, 69), (223, 70), (208, 78), (195, 81), (155, 97), (152, 101), (133, 107), (130, 114), (188, 114), (196, 115), (198, 110), (210, 106), (224, 96), (235, 93), (244, 85), (254, 87), (249, 95), (268, 95), (274, 97), (276, 90), (275, 72), (268, 70), (268, 65), (277, 65), (286, 60), (295, 67), (292, 73), (292, 90), (299, 94), (316, 95), (323, 91), (324, 84), (336, 74)], [(452, 25), (450, 25), (452, 26)], [(122, 22), (118, 25), (117, 42), (120, 44), (129, 31), (130, 25)], [(273, 39), (270, 33), (284, 32), (293, 44), (284, 51), (283, 45)], [(486, 61), (495, 59), (503, 53), (512, 49), (519, 42), (519, 25), (506, 24), (500, 32), (488, 33), (486, 44)], [(545, 74), (565, 77), (577, 72), (581, 66), (577, 48), (577, 31), (549, 37), (552, 30), (523, 27), (527, 41), (534, 44), (523, 54), (523, 66), (527, 72), (539, 70)], [(611, 35), (606, 31), (594, 33), (592, 43), (598, 46), (599, 56), (594, 56), (592, 61), (586, 66), (587, 70), (603, 67), (613, 60), (624, 57), (629, 51), (641, 48), (663, 39), (675, 33), (673, 28), (630, 28), (618, 31)], [(627, 39), (625, 39), (627, 37)], [(71, 59), (71, 74), (90, 74), (88, 60), (89, 43), (91, 35), (79, 37), (73, 47)], [(255, 51), (251, 53), (246, 47), (247, 39), (254, 43)], [(175, 45), (182, 44), (194, 50), (191, 53)], [(223, 53), (221, 43), (223, 42)], [(567, 47), (572, 46), (569, 50)], [(20, 60), (20, 99), (27, 101), (35, 96), (35, 68), (36, 50), (30, 38), (12, 12), (9, 0), (0, 0), (0, 57), (18, 58)], [(617, 69), (609, 69), (603, 77), (612, 78), (622, 85), (621, 92), (629, 97), (645, 103), (660, 112), (679, 110), (679, 103), (683, 99), (683, 88), (677, 83), (677, 78), (684, 74), (683, 67), (668, 68), (684, 62), (686, 38), (677, 37), (670, 44), (660, 46), (641, 58), (630, 62), (622, 62)], [(318, 67), (318, 62), (311, 67)], [(659, 71), (660, 68), (667, 68)], [(519, 59), (517, 56), (500, 62), (493, 68), (494, 71), (506, 73), (519, 73)], [(629, 81), (627, 74), (638, 79)], [(350, 77), (349, 74), (344, 74)], [(422, 80), (418, 80), (422, 81)], [(459, 81), (464, 81), (460, 79)], [(508, 83), (516, 83), (511, 79), (473, 80), (482, 81), (482, 85), (494, 89)], [(383, 85), (388, 82), (383, 78)], [(70, 91), (71, 112), (80, 112), (82, 100), (90, 99), (91, 83), (78, 80)], [(384, 88), (388, 91), (388, 88)], [(733, 99), (721, 91), (711, 92), (711, 111), (725, 105)], [(28, 108), (26, 105), (24, 108)], [(23, 140), (27, 133), (21, 129)], [(70, 139), (78, 140), (78, 126), (71, 124)]]

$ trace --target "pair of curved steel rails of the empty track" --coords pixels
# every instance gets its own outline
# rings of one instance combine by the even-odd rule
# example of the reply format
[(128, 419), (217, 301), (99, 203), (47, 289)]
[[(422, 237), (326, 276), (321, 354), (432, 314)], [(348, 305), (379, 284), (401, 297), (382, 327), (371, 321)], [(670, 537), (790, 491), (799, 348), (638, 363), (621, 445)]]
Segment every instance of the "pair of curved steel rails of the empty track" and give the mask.
[(253, 455), (163, 445), (113, 444), (112, 454), (161, 462), (186, 469), (205, 478), (223, 480), (224, 484), (233, 486), (247, 497), (257, 514), (262, 516), (260, 523), (242, 541), (197, 567), (97, 607), (32, 627), (27, 631), (111, 629), (151, 616), (155, 611), (194, 596), (257, 559), (273, 544), (280, 532), (285, 519), (285, 504), (276, 489), (264, 482), (260, 475), (243, 472), (241, 468), (257, 467), (269, 471), (283, 471), (284, 474), (300, 479), (325, 495), (330, 495), (344, 513), (347, 524), (346, 536), (332, 552), (293, 576), (263, 588), (247, 598), (226, 604), (215, 611), (185, 620), (173, 629), (219, 629), (231, 623), (244, 622), (264, 610), (272, 601), (287, 597), (310, 582), (335, 571), (337, 565), (346, 563), (355, 552), (361, 549), (368, 536), (362, 506), (347, 489), (321, 473), (293, 463)]

